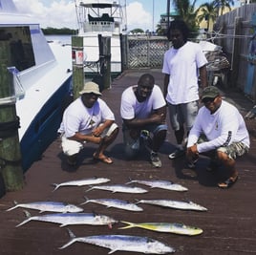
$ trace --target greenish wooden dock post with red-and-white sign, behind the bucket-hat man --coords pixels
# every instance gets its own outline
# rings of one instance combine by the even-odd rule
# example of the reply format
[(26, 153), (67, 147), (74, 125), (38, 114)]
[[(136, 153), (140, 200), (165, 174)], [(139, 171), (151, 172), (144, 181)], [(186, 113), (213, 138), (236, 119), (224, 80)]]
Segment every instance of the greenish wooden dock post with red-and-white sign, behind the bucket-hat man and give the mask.
[(79, 97), (79, 91), (84, 86), (84, 53), (83, 37), (72, 36), (72, 61), (73, 61), (73, 90), (74, 99)]

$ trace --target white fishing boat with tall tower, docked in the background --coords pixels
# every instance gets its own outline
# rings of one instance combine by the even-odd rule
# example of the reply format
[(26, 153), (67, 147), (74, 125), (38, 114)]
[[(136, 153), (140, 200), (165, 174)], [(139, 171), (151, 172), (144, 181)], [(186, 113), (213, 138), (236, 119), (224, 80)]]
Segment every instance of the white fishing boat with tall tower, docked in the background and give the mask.
[(121, 72), (121, 34), (127, 31), (126, 1), (75, 0), (78, 36), (84, 46), (85, 74), (100, 73), (100, 57), (107, 57), (100, 49), (100, 37), (110, 37), (111, 74)]

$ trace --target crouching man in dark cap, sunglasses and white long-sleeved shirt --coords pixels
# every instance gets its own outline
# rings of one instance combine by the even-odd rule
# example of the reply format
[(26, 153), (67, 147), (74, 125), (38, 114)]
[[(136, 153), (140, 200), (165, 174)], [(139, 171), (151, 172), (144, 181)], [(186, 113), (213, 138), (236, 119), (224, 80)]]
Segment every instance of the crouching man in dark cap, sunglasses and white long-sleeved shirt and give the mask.
[(223, 166), (229, 177), (218, 186), (228, 188), (238, 180), (235, 159), (249, 149), (245, 120), (235, 106), (222, 99), (214, 86), (203, 90), (202, 101), (204, 106), (189, 132), (186, 157), (190, 166), (196, 163), (200, 154), (210, 157), (209, 171)]

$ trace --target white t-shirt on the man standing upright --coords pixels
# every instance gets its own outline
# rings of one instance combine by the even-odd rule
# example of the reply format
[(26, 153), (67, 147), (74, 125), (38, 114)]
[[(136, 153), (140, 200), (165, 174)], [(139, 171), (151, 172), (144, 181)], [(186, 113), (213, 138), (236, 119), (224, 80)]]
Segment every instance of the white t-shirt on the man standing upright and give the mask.
[(199, 99), (198, 69), (207, 59), (198, 43), (186, 42), (180, 49), (170, 48), (163, 57), (162, 73), (169, 74), (166, 100), (171, 104)]

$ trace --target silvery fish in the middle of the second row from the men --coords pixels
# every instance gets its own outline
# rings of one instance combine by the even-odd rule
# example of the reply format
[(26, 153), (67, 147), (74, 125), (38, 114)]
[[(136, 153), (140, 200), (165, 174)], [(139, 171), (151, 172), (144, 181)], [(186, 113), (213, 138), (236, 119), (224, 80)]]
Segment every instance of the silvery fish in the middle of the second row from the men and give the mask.
[(98, 204), (106, 205), (108, 208), (114, 207), (118, 209), (128, 210), (128, 211), (143, 211), (141, 207), (139, 207), (137, 204), (132, 202), (127, 202), (123, 200), (114, 200), (114, 199), (96, 199), (96, 200), (89, 200), (87, 198), (86, 202), (82, 202), (81, 204), (85, 204), (87, 202), (95, 202)]

